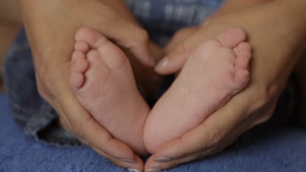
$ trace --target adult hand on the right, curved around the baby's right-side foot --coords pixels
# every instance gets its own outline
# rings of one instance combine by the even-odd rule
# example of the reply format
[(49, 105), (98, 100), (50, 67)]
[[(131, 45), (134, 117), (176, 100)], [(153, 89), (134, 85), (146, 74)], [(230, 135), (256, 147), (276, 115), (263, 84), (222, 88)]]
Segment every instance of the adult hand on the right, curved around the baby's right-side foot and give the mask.
[(243, 92), (198, 127), (161, 146), (147, 160), (145, 169), (167, 169), (220, 152), (244, 131), (272, 116), (287, 78), (306, 46), (305, 5), (302, 0), (278, 0), (218, 17), (204, 23), (181, 44), (168, 46), (175, 48), (170, 48), (168, 57), (157, 66), (162, 74), (180, 70), (190, 52), (203, 41), (229, 28), (243, 28), (253, 47), (251, 80)]

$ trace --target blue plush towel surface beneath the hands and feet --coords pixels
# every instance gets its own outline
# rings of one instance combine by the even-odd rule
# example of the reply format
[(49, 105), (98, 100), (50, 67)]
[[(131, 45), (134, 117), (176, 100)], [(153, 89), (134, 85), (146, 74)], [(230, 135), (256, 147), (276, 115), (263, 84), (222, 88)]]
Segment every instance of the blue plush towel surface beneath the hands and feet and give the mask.
[[(0, 171), (126, 171), (87, 147), (56, 147), (26, 137), (0, 95)], [(271, 131), (252, 144), (169, 171), (306, 171), (306, 131)]]

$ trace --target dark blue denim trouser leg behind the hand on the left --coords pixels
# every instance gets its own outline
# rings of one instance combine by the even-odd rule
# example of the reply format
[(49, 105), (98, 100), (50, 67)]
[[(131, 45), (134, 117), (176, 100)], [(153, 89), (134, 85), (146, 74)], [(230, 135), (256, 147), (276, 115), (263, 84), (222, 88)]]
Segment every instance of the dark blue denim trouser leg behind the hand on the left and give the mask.
[[(5, 63), (5, 83), (8, 90), (12, 115), (26, 135), (39, 140), (39, 132), (44, 132), (58, 117), (55, 110), (40, 97), (37, 88), (32, 54), (25, 31), (22, 30), (13, 43)], [(79, 144), (71, 134), (52, 125), (47, 135), (49, 142)], [(45, 138), (42, 135), (42, 138)], [(55, 141), (52, 141), (55, 140)]]

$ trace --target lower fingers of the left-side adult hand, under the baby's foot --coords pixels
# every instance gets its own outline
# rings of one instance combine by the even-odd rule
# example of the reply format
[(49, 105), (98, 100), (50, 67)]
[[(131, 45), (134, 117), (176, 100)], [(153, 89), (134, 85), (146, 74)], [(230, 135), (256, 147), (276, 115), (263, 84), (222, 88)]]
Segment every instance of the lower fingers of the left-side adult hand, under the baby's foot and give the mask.
[(118, 165), (125, 164), (124, 167), (142, 169), (143, 163), (137, 161), (137, 156), (133, 151), (123, 142), (113, 138), (106, 129), (94, 120), (69, 89), (65, 94), (57, 97), (57, 102), (61, 118), (69, 130), (77, 135), (82, 142), (99, 154), (116, 159), (116, 161), (113, 160), (115, 162), (122, 161), (120, 164), (116, 163)]

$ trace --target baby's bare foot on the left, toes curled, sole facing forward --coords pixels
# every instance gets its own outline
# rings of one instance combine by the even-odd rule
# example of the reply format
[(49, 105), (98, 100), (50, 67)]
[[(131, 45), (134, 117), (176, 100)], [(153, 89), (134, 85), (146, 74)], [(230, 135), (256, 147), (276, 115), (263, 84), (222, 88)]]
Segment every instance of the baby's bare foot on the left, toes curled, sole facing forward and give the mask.
[(145, 155), (143, 127), (149, 107), (139, 94), (125, 54), (96, 30), (75, 34), (70, 85), (80, 103), (113, 137)]

